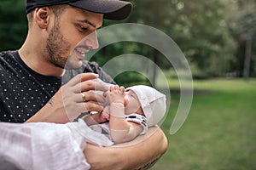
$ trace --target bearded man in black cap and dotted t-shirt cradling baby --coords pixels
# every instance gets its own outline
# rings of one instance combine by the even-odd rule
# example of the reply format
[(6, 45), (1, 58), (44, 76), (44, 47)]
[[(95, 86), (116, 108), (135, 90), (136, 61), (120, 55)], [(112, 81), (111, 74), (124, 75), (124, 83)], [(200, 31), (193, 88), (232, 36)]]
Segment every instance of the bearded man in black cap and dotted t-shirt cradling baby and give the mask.
[[(122, 20), (130, 12), (131, 3), (118, 0), (27, 0), (26, 41), (18, 51), (0, 53), (0, 120), (65, 123), (82, 112), (102, 111), (96, 101), (103, 99), (90, 90), (107, 89), (89, 80), (97, 75), (105, 82), (113, 80), (95, 63), (82, 62), (81, 56), (98, 48), (96, 29), (103, 19)], [(84, 37), (84, 47), (77, 48)], [(70, 55), (73, 51), (77, 55)], [(77, 75), (81, 69), (97, 75)], [(154, 131), (128, 147), (86, 144), (84, 156), (91, 169), (150, 167), (167, 146), (162, 131)]]

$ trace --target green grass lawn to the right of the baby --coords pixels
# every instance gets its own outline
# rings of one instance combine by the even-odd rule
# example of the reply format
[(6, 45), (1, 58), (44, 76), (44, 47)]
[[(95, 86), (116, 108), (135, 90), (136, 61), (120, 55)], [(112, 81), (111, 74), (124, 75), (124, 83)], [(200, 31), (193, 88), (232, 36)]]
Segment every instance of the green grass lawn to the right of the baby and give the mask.
[(173, 135), (169, 130), (179, 95), (172, 94), (171, 109), (161, 126), (168, 150), (151, 169), (256, 169), (256, 80), (195, 81), (194, 88), (189, 116)]

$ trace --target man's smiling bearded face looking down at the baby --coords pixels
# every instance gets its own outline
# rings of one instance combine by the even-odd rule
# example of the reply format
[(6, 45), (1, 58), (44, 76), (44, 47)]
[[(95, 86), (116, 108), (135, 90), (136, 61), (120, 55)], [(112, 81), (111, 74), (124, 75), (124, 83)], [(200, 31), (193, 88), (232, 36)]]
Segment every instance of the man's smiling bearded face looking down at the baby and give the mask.
[(98, 48), (96, 29), (102, 26), (103, 14), (79, 8), (66, 8), (55, 18), (47, 39), (49, 61), (65, 69), (79, 68), (84, 54)]

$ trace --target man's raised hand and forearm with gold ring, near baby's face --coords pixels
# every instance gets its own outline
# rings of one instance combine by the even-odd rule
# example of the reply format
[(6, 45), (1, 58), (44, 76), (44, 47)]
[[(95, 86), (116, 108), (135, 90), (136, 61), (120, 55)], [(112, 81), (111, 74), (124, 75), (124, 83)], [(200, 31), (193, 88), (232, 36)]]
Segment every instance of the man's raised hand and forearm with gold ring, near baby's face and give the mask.
[(58, 90), (47, 105), (26, 122), (72, 122), (83, 112), (102, 111), (99, 103), (104, 103), (105, 99), (90, 90), (104, 92), (108, 88), (99, 82), (90, 81), (97, 77), (94, 73), (82, 73), (73, 77)]

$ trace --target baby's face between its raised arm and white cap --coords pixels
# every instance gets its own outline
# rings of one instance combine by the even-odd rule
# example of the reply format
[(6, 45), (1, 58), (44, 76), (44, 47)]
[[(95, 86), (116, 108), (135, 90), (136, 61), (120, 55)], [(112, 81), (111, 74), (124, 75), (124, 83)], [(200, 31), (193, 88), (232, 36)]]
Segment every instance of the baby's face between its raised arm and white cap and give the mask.
[(132, 90), (125, 90), (125, 114), (137, 113), (143, 115), (143, 110), (137, 94)]

